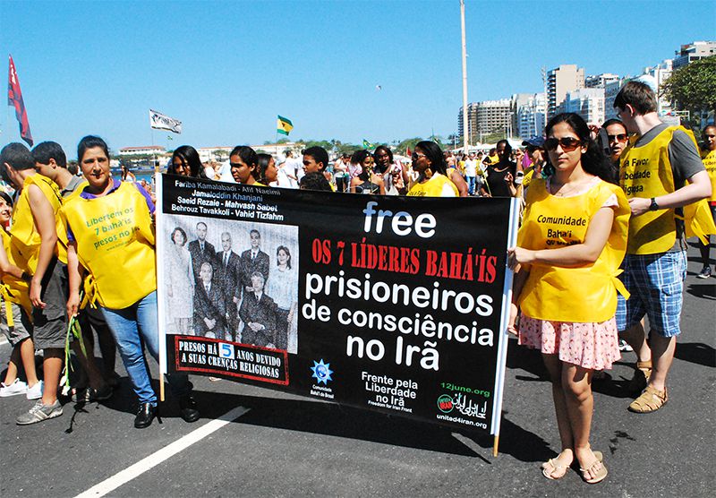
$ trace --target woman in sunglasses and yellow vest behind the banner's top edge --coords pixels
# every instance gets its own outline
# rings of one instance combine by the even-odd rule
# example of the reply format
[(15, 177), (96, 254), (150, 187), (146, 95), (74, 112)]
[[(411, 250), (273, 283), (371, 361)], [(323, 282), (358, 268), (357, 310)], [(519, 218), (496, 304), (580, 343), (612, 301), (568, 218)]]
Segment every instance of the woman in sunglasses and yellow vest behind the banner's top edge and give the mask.
[(418, 142), (413, 151), (413, 171), (417, 179), (407, 195), (417, 197), (457, 197), (457, 187), (447, 177), (447, 165), (439, 145), (435, 142)]

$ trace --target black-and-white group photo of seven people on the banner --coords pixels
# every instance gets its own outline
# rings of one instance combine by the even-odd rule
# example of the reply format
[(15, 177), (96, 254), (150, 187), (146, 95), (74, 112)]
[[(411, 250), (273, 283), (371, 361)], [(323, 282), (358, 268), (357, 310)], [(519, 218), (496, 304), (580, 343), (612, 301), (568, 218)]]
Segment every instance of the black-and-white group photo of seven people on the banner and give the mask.
[(297, 353), (298, 228), (168, 216), (164, 232), (167, 334)]

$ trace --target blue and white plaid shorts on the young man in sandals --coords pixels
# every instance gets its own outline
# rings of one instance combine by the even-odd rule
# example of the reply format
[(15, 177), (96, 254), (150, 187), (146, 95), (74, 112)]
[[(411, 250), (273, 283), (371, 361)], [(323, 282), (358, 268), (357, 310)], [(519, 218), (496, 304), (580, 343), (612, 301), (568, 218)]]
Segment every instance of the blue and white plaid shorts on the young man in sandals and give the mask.
[(684, 303), (686, 251), (657, 254), (626, 254), (619, 279), (631, 296), (618, 296), (617, 329), (626, 331), (644, 314), (652, 331), (662, 337), (681, 333), (679, 320)]

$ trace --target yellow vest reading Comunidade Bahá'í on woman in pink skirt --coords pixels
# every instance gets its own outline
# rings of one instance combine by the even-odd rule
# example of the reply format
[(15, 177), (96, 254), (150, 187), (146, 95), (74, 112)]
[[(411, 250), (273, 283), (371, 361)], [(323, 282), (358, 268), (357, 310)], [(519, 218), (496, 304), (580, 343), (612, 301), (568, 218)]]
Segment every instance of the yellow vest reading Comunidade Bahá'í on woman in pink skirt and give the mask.
[(533, 178), (517, 245), (530, 250), (584, 243), (592, 217), (612, 194), (618, 207), (609, 239), (596, 262), (577, 268), (533, 264), (519, 305), (532, 318), (553, 322), (605, 322), (617, 310), (617, 291), (628, 296), (617, 275), (626, 252), (629, 204), (617, 185), (607, 182), (574, 197), (547, 192), (545, 180)]

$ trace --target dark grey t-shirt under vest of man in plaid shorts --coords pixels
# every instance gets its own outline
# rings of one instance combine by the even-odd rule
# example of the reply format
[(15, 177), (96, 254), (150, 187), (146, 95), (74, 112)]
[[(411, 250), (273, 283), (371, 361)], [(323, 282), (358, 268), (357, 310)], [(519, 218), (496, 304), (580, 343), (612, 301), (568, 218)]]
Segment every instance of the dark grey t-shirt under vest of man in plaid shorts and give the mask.
[[(652, 140), (669, 125), (661, 124), (654, 126), (651, 130), (640, 136), (635, 143), (636, 147), (642, 147)], [(681, 130), (674, 131), (674, 135), (669, 142), (669, 162), (671, 163), (671, 171), (674, 175), (674, 189), (678, 190), (686, 183), (686, 180), (694, 176), (699, 171), (705, 171), (699, 151), (691, 137)], [(683, 216), (683, 210), (677, 208), (678, 215)], [(686, 236), (684, 234), (684, 222), (676, 219), (677, 224), (677, 241), (671, 248), (669, 253), (674, 251), (686, 251)]]

